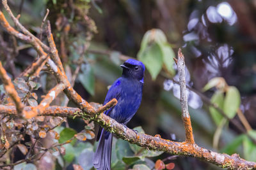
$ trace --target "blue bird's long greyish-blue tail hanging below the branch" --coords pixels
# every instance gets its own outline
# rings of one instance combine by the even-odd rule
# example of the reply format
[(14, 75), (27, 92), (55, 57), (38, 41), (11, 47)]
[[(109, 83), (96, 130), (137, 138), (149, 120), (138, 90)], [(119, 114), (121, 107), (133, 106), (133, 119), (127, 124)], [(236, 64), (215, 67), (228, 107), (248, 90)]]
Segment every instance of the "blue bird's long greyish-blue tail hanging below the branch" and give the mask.
[(110, 170), (113, 134), (102, 129), (99, 146), (93, 156), (93, 165), (98, 170)]

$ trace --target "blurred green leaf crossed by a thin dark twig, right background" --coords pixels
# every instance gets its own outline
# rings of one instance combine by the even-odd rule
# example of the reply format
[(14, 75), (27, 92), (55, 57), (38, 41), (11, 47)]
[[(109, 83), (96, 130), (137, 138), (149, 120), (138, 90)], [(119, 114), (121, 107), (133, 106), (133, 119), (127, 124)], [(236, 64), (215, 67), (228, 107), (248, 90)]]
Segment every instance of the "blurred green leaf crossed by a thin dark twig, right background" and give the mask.
[[(224, 94), (221, 91), (216, 91), (212, 98), (211, 102), (216, 104), (220, 109), (223, 109), (223, 104), (224, 104)], [(217, 111), (215, 108), (210, 107), (209, 111), (211, 113), (212, 119), (214, 120), (216, 125), (220, 124), (220, 121), (222, 120), (223, 116), (220, 114), (219, 111)]]

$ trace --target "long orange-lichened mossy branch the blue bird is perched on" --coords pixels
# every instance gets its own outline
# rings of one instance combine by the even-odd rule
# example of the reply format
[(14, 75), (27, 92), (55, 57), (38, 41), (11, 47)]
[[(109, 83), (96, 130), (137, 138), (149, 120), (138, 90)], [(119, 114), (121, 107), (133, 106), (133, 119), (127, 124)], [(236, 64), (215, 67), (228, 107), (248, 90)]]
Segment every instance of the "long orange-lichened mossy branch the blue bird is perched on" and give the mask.
[[(25, 107), (24, 109), (29, 111), (32, 107)], [(83, 117), (90, 118), (94, 122), (98, 122), (100, 126), (104, 127), (109, 132), (116, 134), (118, 138), (122, 138), (129, 143), (136, 144), (149, 150), (157, 150), (172, 155), (185, 155), (188, 157), (195, 157), (205, 162), (211, 162), (217, 166), (229, 169), (256, 169), (256, 162), (249, 162), (241, 159), (236, 153), (233, 155), (227, 155), (225, 153), (217, 153), (211, 150), (207, 150), (198, 145), (188, 142), (174, 142), (160, 137), (150, 136), (148, 134), (136, 134), (132, 129), (125, 128), (124, 125), (119, 124), (116, 120), (108, 117), (104, 113), (100, 113), (98, 117), (90, 117), (86, 113), (82, 113), (82, 110), (78, 108), (67, 108), (51, 106), (46, 108), (41, 115), (58, 116), (58, 117)], [(76, 114), (74, 114), (76, 113)], [(0, 114), (17, 114), (14, 106), (0, 105)]]

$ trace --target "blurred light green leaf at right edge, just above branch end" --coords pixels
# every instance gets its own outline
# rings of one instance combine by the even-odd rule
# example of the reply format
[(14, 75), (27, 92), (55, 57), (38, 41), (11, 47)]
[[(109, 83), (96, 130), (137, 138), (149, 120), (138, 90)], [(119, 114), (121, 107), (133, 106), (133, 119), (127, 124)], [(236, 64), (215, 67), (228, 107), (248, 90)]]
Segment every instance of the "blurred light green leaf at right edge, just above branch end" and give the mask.
[(244, 159), (255, 162), (256, 161), (256, 157), (255, 157), (256, 145), (247, 136), (243, 140), (243, 147), (244, 147)]

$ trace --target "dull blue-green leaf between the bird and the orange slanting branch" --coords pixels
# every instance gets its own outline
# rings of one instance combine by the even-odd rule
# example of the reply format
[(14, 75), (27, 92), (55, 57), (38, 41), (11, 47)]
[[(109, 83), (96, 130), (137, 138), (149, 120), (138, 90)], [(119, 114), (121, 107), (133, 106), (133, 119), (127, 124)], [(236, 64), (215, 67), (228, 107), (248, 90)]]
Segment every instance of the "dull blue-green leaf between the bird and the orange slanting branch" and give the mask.
[(78, 75), (78, 79), (82, 83), (84, 89), (86, 89), (93, 96), (95, 89), (93, 67), (90, 64), (83, 64), (81, 66), (81, 71), (82, 73)]

